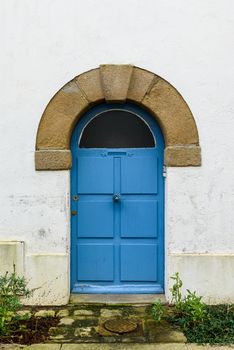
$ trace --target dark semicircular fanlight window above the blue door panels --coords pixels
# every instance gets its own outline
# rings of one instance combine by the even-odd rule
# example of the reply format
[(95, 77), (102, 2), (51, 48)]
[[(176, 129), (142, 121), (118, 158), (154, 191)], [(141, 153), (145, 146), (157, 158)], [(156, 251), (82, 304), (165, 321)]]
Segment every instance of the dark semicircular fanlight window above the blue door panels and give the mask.
[(124, 110), (98, 114), (85, 127), (80, 148), (155, 147), (148, 125), (137, 115)]

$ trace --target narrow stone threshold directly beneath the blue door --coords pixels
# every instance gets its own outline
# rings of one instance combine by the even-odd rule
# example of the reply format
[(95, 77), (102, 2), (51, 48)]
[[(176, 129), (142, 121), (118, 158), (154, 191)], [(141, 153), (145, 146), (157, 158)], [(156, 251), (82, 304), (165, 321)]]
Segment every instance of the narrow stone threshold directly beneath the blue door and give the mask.
[(166, 303), (165, 294), (71, 294), (70, 304), (152, 304)]

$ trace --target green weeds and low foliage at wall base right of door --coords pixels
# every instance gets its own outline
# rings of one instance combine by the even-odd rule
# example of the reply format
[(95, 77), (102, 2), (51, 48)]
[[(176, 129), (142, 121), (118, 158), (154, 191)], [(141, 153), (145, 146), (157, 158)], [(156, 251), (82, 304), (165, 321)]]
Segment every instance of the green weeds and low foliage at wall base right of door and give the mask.
[(166, 320), (179, 326), (188, 342), (192, 343), (233, 343), (234, 305), (206, 305), (196, 292), (187, 290), (183, 298), (183, 283), (176, 273), (171, 277), (174, 284), (170, 289), (172, 304), (154, 303), (152, 315), (156, 322)]

